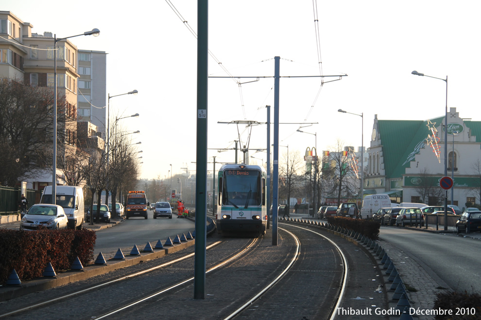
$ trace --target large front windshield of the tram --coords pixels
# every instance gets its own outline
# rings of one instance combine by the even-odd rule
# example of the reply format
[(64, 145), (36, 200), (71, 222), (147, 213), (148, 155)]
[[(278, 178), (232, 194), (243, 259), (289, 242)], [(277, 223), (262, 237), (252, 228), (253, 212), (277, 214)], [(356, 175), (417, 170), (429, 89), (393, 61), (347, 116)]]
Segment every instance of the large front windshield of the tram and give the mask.
[(260, 206), (260, 172), (257, 170), (225, 170), (223, 175), (222, 204), (237, 207)]

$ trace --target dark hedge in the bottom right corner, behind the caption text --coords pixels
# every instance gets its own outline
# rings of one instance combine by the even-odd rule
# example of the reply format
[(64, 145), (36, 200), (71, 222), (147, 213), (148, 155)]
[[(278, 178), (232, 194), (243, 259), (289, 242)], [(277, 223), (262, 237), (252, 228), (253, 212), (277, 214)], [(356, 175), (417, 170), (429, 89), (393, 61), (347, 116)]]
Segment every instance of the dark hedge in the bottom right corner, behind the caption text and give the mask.
[[(435, 319), (480, 319), (480, 301), (481, 295), (479, 293), (469, 294), (467, 291), (438, 293), (433, 309), (452, 310), (453, 316), (436, 315)], [(454, 315), (455, 313), (458, 313), (458, 315)]]

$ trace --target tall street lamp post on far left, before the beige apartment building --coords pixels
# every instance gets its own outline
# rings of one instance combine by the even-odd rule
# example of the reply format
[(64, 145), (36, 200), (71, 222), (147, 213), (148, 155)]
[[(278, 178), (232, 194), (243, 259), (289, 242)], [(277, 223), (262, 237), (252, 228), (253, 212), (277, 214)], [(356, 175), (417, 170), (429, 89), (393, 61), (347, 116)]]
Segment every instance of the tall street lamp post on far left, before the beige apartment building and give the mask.
[(92, 31), (86, 31), (82, 34), (71, 35), (65, 38), (58, 38), (57, 34), (53, 35), (53, 159), (52, 159), (52, 205), (56, 201), (56, 186), (57, 186), (57, 42), (80, 35), (93, 35), (99, 36), (99, 29), (92, 29)]

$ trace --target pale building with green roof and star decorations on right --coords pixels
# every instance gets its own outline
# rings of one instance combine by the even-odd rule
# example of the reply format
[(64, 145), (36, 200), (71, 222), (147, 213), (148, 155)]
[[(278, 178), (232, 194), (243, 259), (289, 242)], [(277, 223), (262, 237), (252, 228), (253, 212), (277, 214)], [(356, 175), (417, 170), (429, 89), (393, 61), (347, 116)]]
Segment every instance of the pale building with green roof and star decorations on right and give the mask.
[[(453, 204), (480, 204), (481, 121), (467, 121), (450, 108), (447, 120), (448, 176)], [(364, 193), (387, 193), (395, 202), (444, 203), (444, 116), (428, 120), (379, 120), (367, 150)], [(451, 190), (447, 192), (451, 204)]]

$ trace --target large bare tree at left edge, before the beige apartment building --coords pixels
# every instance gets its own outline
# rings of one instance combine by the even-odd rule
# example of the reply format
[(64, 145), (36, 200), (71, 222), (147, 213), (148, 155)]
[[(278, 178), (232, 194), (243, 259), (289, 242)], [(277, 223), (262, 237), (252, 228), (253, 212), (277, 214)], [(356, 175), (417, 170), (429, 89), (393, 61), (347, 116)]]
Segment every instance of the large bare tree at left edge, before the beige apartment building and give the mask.
[[(15, 185), (52, 164), (53, 93), (21, 81), (0, 79), (0, 184)], [(65, 97), (57, 97), (64, 110)], [(58, 132), (64, 140), (65, 112), (58, 112)]]

